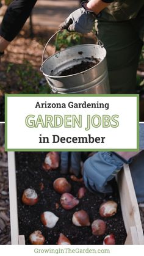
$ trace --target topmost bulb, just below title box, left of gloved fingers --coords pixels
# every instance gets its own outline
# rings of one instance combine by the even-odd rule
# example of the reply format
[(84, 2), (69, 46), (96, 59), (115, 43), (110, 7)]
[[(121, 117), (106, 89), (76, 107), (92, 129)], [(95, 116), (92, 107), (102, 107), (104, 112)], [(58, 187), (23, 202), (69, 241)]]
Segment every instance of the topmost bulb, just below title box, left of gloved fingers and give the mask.
[(46, 155), (45, 163), (43, 164), (43, 169), (45, 170), (51, 170), (51, 169), (57, 169), (59, 167), (59, 152), (49, 152)]

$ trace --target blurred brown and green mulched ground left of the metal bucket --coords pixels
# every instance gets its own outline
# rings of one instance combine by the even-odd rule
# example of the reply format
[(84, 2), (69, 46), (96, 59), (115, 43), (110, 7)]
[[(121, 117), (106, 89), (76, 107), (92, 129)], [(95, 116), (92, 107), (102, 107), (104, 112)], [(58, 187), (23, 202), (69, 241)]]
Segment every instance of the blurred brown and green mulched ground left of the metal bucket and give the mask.
[[(18, 37), (5, 51), (0, 63), (0, 122), (4, 122), (5, 93), (49, 93), (48, 84), (40, 72), (41, 56), (48, 38), (54, 31), (34, 27), (34, 38), (29, 38), (29, 27), (24, 26)], [(49, 45), (48, 53), (55, 48)]]

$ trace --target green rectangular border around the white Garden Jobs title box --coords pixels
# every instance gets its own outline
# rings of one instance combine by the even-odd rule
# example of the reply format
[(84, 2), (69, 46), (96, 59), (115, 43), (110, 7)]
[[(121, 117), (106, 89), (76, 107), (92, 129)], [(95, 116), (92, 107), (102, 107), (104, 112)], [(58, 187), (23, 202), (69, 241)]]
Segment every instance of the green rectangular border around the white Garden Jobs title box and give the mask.
[[(136, 97), (137, 98), (137, 148), (123, 149), (123, 148), (7, 148), (7, 98), (8, 97)], [(139, 150), (139, 94), (5, 94), (5, 152), (109, 152), (109, 151), (123, 151), (123, 152), (136, 152)]]

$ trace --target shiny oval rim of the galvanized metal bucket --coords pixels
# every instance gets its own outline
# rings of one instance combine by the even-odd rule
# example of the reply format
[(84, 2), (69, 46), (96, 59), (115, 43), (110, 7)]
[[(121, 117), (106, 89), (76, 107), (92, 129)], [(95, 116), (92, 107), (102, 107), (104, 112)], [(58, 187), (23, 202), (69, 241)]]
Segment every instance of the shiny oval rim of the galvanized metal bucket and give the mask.
[[(77, 46), (96, 46), (98, 48), (101, 48), (101, 49), (104, 49), (105, 53), (107, 53), (106, 49), (104, 47), (101, 47), (100, 45), (95, 45), (95, 44), (92, 44), (92, 43), (85, 43), (84, 45), (74, 45), (74, 46), (70, 46), (66, 49), (63, 49), (62, 51), (65, 51), (67, 49), (71, 49), (71, 48), (76, 48)], [(62, 53), (62, 51), (58, 51), (57, 53), (54, 53), (52, 54), (51, 56), (49, 56), (48, 58), (46, 58), (43, 62), (43, 64), (45, 64), (45, 62), (48, 60), (48, 59), (51, 59), (51, 57), (54, 57), (56, 54), (59, 54), (59, 53)], [(70, 77), (73, 77), (73, 76), (76, 76), (76, 75), (79, 75), (79, 74), (82, 74), (82, 73), (86, 73), (87, 71), (89, 70), (92, 70), (93, 68), (95, 68), (96, 66), (98, 66), (99, 64), (101, 64), (101, 62), (104, 61), (104, 59), (106, 58), (106, 55), (104, 56), (104, 58), (98, 62), (98, 64), (94, 65), (92, 68), (88, 68), (87, 70), (84, 70), (84, 71), (81, 71), (79, 73), (75, 73), (73, 75), (68, 75), (68, 76), (51, 76), (51, 75), (48, 75), (48, 74), (45, 74), (44, 71), (43, 71), (43, 64), (41, 64), (41, 67), (40, 67), (40, 71), (43, 73), (44, 76), (48, 76), (48, 78), (70, 78)]]

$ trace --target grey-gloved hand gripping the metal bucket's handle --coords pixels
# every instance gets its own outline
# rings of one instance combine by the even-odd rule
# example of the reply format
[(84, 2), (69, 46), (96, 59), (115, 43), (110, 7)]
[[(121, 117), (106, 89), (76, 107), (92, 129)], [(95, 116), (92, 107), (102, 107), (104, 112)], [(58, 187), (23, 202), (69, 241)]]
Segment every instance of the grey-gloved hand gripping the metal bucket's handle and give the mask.
[(92, 31), (96, 14), (81, 7), (72, 12), (68, 18), (59, 25), (60, 29), (67, 29), (72, 32), (88, 33)]

